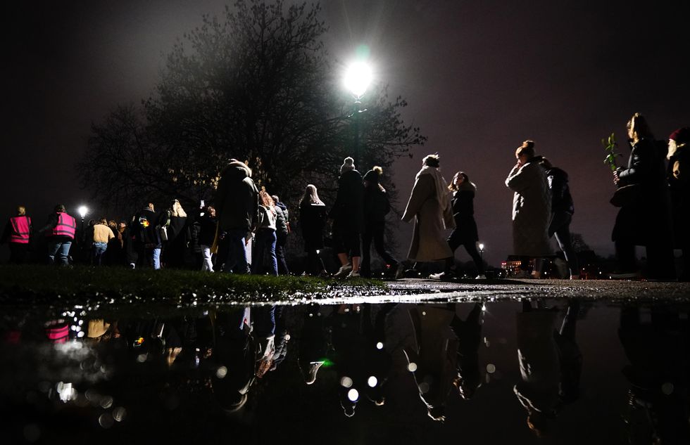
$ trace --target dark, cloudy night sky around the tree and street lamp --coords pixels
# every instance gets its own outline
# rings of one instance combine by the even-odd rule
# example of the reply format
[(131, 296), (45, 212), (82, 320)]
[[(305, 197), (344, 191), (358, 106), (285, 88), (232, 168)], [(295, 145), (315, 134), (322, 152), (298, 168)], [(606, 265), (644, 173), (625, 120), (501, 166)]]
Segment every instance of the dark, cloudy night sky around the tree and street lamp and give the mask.
[[(92, 191), (80, 188), (74, 165), (90, 124), (118, 103), (149, 96), (175, 38), (199, 25), (202, 14), (221, 13), (224, 4), (8, 4), (0, 216), (23, 204), (38, 225), (58, 202), (72, 210), (88, 204)], [(384, 172), (394, 174), (399, 205), (422, 157), (438, 152), (446, 179), (462, 169), (477, 184), (479, 238), (494, 265), (510, 253), (513, 193), (503, 181), (515, 148), (527, 138), (570, 174), (571, 230), (599, 254), (613, 252), (616, 209), (608, 199), (614, 186), (601, 138), (615, 131), (623, 140), (634, 112), (648, 117), (659, 139), (690, 126), (690, 39), (677, 8), (618, 0), (322, 2), (332, 58), (344, 62), (356, 46), (370, 46), (377, 82), (408, 100), (407, 123), (429, 138), (413, 149), (413, 159)], [(620, 151), (627, 160), (627, 148)], [(411, 224), (401, 224), (399, 254), (406, 253), (411, 233)], [(0, 256), (6, 252), (2, 247)], [(457, 257), (469, 260), (462, 249)]]

